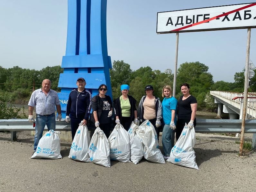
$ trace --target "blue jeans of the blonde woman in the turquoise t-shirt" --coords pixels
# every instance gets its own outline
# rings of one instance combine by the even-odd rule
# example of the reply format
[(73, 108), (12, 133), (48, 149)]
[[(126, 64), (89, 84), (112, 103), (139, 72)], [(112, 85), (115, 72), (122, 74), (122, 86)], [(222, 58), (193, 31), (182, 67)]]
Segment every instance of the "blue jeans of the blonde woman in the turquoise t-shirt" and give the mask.
[(170, 128), (169, 124), (164, 124), (162, 132), (162, 144), (164, 150), (164, 156), (170, 156), (171, 149), (174, 146), (175, 131)]

